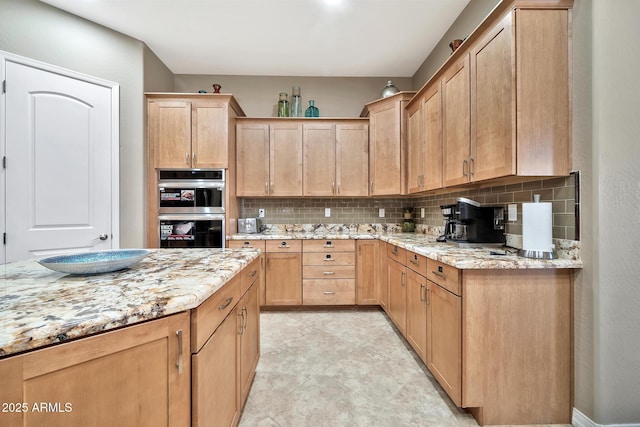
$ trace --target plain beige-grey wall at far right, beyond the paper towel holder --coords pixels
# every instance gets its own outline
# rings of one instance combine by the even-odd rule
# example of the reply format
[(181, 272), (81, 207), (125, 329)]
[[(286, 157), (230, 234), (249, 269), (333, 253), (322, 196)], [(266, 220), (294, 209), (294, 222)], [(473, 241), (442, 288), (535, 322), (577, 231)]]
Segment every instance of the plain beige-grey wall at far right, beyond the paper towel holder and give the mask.
[(593, 382), (603, 424), (640, 425), (638, 16), (637, 0), (593, 0)]

